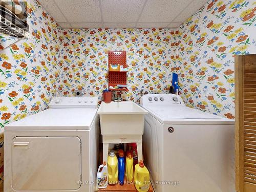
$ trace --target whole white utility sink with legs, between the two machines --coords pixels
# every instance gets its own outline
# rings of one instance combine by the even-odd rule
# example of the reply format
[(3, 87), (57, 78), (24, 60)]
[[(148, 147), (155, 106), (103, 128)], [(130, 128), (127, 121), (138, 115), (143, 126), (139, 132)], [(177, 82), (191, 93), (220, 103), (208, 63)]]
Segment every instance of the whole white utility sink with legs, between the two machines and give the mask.
[(102, 102), (98, 112), (103, 142), (103, 161), (108, 160), (109, 143), (137, 143), (138, 159), (142, 157), (144, 115), (148, 112), (132, 101)]

